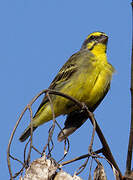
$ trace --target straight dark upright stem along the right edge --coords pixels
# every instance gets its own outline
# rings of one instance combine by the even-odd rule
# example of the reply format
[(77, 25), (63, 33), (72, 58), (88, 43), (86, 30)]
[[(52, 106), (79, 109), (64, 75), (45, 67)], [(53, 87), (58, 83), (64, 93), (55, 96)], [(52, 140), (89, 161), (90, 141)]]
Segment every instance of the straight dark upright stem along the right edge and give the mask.
[[(132, 21), (133, 21), (133, 1), (132, 6)], [(131, 161), (132, 161), (132, 150), (133, 150), (133, 24), (132, 24), (132, 54), (131, 54), (131, 125), (130, 125), (130, 136), (127, 152), (126, 161), (126, 175), (131, 173)]]

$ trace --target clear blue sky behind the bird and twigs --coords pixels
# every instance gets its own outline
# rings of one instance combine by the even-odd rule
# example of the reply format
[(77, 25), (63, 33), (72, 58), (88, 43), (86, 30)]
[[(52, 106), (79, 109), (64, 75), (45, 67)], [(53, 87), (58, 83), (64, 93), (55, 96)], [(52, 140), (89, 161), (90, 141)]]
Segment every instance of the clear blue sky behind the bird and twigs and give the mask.
[[(109, 36), (108, 60), (115, 67), (111, 89), (95, 111), (112, 153), (125, 172), (130, 124), (130, 59), (131, 59), (131, 6), (130, 1), (106, 0), (12, 0), (0, 2), (0, 78), (1, 78), (1, 131), (0, 179), (9, 179), (6, 150), (12, 129), (26, 104), (50, 82), (65, 61), (81, 47), (86, 36), (103, 31)], [(35, 104), (35, 109), (39, 101)], [(18, 137), (28, 124), (24, 116), (13, 141), (12, 153), (23, 158), (24, 144)], [(63, 125), (64, 117), (59, 123)], [(38, 128), (34, 144), (41, 149), (47, 140), (49, 122)], [(53, 156), (59, 160), (63, 143), (54, 134)], [(70, 152), (66, 160), (87, 153), (92, 126), (88, 120), (70, 137)], [(94, 150), (100, 148), (95, 138)], [(32, 154), (32, 159), (39, 157)], [(71, 174), (82, 164), (73, 163), (64, 168)], [(109, 179), (113, 174), (107, 168)], [(18, 165), (12, 162), (16, 171)], [(81, 174), (87, 179), (89, 166)]]

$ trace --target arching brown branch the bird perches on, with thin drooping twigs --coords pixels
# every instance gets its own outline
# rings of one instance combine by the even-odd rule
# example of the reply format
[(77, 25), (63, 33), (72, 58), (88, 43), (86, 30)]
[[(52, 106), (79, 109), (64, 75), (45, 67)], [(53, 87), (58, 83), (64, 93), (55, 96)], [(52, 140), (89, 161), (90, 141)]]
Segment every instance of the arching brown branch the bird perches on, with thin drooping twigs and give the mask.
[[(64, 98), (69, 99), (70, 101), (72, 101), (73, 103), (75, 103), (75, 105), (77, 105), (77, 106), (79, 107), (79, 109), (82, 109), (82, 110), (84, 111), (84, 113), (87, 113), (87, 116), (88, 116), (88, 118), (90, 119), (90, 121), (91, 121), (91, 123), (92, 123), (92, 125), (93, 125), (93, 133), (92, 133), (92, 137), (91, 137), (91, 143), (90, 143), (90, 145), (89, 145), (89, 153), (90, 153), (90, 156), (91, 156), (91, 157), (94, 156), (94, 154), (93, 154), (93, 152), (92, 152), (92, 145), (93, 145), (94, 134), (95, 134), (95, 130), (96, 130), (96, 132), (97, 132), (97, 134), (98, 134), (98, 137), (99, 137), (99, 139), (100, 139), (100, 141), (101, 141), (101, 143), (102, 143), (102, 146), (103, 146), (102, 151), (100, 151), (100, 152), (103, 153), (103, 155), (105, 156), (105, 158), (107, 159), (107, 161), (110, 162), (111, 165), (113, 165), (114, 168), (119, 172), (120, 180), (122, 180), (122, 174), (121, 174), (121, 172), (120, 172), (120, 169), (119, 169), (119, 167), (117, 166), (117, 164), (116, 164), (116, 162), (115, 162), (115, 160), (114, 160), (114, 158), (113, 158), (113, 155), (112, 155), (112, 153), (111, 153), (111, 150), (110, 150), (110, 148), (109, 148), (109, 146), (108, 146), (108, 144), (107, 144), (107, 142), (106, 142), (106, 140), (105, 140), (105, 137), (104, 137), (104, 135), (103, 135), (100, 127), (98, 126), (98, 124), (97, 124), (97, 122), (96, 122), (96, 120), (95, 120), (95, 117), (94, 117), (93, 113), (91, 113), (91, 112), (88, 110), (88, 108), (85, 106), (84, 103), (79, 102), (78, 100), (74, 99), (73, 97), (71, 97), (71, 96), (69, 96), (69, 95), (66, 95), (66, 94), (63, 94), (63, 93), (61, 93), (61, 92), (54, 91), (54, 90), (51, 90), (51, 89), (46, 89), (46, 90), (41, 91), (37, 96), (35, 96), (35, 97), (32, 99), (32, 101), (25, 107), (25, 109), (24, 109), (23, 112), (21, 113), (21, 115), (20, 115), (20, 117), (19, 117), (19, 119), (18, 119), (18, 121), (17, 121), (14, 129), (13, 129), (13, 132), (12, 132), (12, 134), (11, 134), (11, 137), (10, 137), (10, 140), (9, 140), (9, 144), (8, 144), (8, 150), (7, 150), (7, 161), (8, 161), (8, 168), (9, 168), (9, 173), (10, 173), (11, 179), (13, 179), (13, 176), (12, 176), (11, 164), (10, 164), (10, 157), (11, 157), (11, 155), (10, 155), (10, 147), (11, 147), (11, 143), (12, 143), (12, 140), (13, 140), (13, 137), (14, 137), (14, 134), (15, 134), (15, 131), (16, 131), (16, 129), (17, 129), (19, 123), (20, 123), (20, 120), (22, 119), (22, 117), (23, 117), (23, 115), (24, 115), (24, 113), (26, 112), (27, 109), (30, 111), (30, 119), (31, 119), (31, 121), (32, 121), (32, 109), (31, 109), (31, 106), (32, 106), (32, 104), (37, 100), (37, 98), (38, 98), (39, 96), (41, 96), (42, 94), (44, 94), (44, 93), (46, 93), (47, 96), (48, 96), (48, 99), (49, 99), (50, 104), (51, 104), (51, 110), (52, 110), (52, 112), (53, 112), (53, 126), (50, 128), (50, 133), (49, 133), (49, 138), (48, 138), (48, 144), (49, 144), (49, 142), (51, 141), (52, 134), (53, 134), (53, 129), (54, 129), (54, 126), (55, 126), (55, 123), (56, 123), (55, 116), (54, 116), (54, 110), (53, 110), (53, 106), (52, 106), (52, 102), (51, 102), (51, 99), (50, 99), (50, 96), (49, 96), (49, 94), (54, 94), (54, 95), (62, 96), (62, 97), (64, 97)], [(32, 123), (31, 123), (31, 124), (32, 124)], [(29, 153), (28, 153), (28, 158), (27, 158), (27, 160), (25, 160), (25, 162), (24, 162), (23, 168), (25, 168), (25, 167), (26, 167), (26, 164), (28, 164), (28, 162), (29, 162), (29, 160), (30, 160), (31, 148), (33, 148), (33, 146), (32, 146), (32, 131), (33, 131), (33, 129), (31, 128), (31, 138), (29, 139), (29, 142), (30, 142), (30, 150), (29, 150)], [(48, 144), (47, 144), (47, 145), (48, 145)], [(26, 146), (27, 146), (27, 145), (26, 145)], [(25, 152), (26, 152), (26, 147), (25, 147)], [(24, 153), (24, 154), (25, 154), (25, 153)], [(24, 159), (26, 159), (26, 158), (24, 158)], [(87, 162), (87, 161), (86, 161), (86, 162)], [(85, 167), (85, 166), (86, 166), (86, 165), (84, 165), (84, 167)], [(112, 167), (112, 166), (111, 166), (111, 167)], [(23, 168), (22, 168), (22, 170), (23, 170)], [(20, 172), (22, 172), (22, 170), (20, 170), (20, 171), (17, 173), (17, 175), (18, 175)]]

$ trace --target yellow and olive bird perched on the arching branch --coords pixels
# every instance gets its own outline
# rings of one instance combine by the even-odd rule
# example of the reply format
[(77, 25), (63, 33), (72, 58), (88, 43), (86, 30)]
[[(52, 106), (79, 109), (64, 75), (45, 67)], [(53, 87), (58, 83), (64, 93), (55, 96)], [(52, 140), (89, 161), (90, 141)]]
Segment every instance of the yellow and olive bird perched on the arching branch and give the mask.
[[(105, 33), (91, 33), (84, 41), (81, 49), (63, 65), (49, 89), (65, 93), (80, 102), (84, 102), (88, 109), (93, 112), (107, 94), (114, 72), (113, 66), (107, 61), (107, 42), (108, 36)], [(58, 137), (58, 140), (62, 141), (75, 131), (67, 125), (73, 124), (73, 122), (80, 124), (86, 117), (84, 115), (82, 117), (82, 113), (70, 100), (55, 95), (50, 95), (50, 97), (55, 117), (68, 115), (64, 128), (65, 136), (60, 133)], [(51, 106), (45, 96), (33, 118), (33, 130), (52, 118)], [(29, 136), (30, 125), (19, 140), (23, 142)]]

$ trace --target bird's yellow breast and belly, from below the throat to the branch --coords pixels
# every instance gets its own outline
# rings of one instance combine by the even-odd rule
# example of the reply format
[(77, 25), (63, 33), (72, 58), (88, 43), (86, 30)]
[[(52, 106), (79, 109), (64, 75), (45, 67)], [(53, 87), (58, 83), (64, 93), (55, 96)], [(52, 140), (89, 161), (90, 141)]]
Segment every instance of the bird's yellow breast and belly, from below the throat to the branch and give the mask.
[[(84, 102), (90, 110), (94, 110), (109, 89), (112, 73), (113, 67), (108, 62), (96, 61), (92, 63), (91, 67), (90, 65), (83, 69), (81, 67), (81, 71), (75, 73), (75, 76), (66, 83), (61, 92)], [(62, 111), (65, 109), (65, 114), (73, 110), (70, 108), (68, 112), (66, 111), (66, 107), (71, 107), (71, 103), (67, 99), (57, 97), (55, 102), (56, 106), (62, 108)]]

